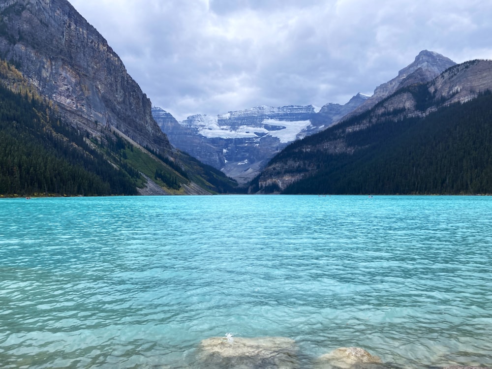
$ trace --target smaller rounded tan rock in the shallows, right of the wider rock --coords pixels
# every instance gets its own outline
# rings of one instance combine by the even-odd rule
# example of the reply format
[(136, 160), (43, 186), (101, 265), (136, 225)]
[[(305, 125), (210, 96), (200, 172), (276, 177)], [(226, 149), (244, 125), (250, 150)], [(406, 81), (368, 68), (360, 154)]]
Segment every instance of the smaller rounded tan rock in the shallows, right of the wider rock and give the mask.
[[(360, 364), (381, 364), (381, 359), (369, 354), (361, 347), (340, 347), (322, 355), (317, 360), (316, 368), (343, 368), (349, 369)], [(368, 366), (370, 368), (370, 366)]]

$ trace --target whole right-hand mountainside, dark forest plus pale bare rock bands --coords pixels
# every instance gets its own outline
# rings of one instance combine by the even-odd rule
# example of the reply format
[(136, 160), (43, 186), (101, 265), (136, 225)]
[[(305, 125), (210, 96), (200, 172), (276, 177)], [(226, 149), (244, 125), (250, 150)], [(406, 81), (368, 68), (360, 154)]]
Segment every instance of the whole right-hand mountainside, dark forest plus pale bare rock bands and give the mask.
[(453, 66), (277, 154), (250, 193), (492, 193), (492, 62)]

